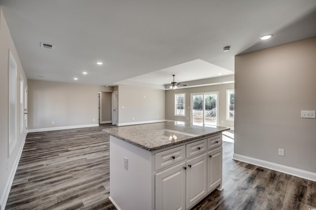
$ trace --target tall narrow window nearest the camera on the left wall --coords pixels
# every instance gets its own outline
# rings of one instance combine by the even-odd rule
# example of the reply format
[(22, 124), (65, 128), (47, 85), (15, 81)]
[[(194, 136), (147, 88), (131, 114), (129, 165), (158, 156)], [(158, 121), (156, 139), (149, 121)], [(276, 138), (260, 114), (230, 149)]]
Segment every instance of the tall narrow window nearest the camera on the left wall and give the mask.
[(16, 62), (9, 51), (9, 153), (16, 144)]

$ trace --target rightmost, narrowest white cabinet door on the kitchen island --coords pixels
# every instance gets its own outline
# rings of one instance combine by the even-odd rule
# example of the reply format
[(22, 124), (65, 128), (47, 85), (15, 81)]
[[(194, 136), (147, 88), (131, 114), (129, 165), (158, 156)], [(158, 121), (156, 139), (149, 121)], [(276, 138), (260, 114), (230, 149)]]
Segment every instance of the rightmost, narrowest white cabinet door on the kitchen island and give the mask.
[(207, 192), (222, 183), (222, 150), (221, 146), (207, 153)]

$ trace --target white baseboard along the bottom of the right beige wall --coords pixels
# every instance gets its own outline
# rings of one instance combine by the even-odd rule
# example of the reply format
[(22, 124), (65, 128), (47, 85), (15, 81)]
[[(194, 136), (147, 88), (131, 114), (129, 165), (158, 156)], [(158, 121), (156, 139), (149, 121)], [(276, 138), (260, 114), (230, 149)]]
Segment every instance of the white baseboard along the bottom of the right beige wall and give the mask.
[(260, 160), (260, 159), (256, 159), (256, 158), (252, 158), (252, 157), (247, 157), (244, 155), (238, 155), (235, 154), (233, 155), (233, 159), (234, 160), (238, 160), (238, 161), (242, 161), (245, 163), (250, 163), (256, 166), (261, 166), (267, 169), (272, 169), (278, 172), (282, 172), (285, 174), (289, 174), (289, 175), (294, 175), (294, 176), (298, 176), (301, 178), (305, 178), (305, 179), (309, 179), (312, 181), (316, 181), (316, 173), (313, 172), (308, 172), (308, 171), (304, 171), (301, 169), (296, 169), (296, 168), (292, 168), (292, 167), (288, 167), (288, 166), (283, 166), (280, 164), (276, 164), (276, 163), (272, 163), (272, 162), (268, 162), (268, 161), (264, 161), (264, 160)]

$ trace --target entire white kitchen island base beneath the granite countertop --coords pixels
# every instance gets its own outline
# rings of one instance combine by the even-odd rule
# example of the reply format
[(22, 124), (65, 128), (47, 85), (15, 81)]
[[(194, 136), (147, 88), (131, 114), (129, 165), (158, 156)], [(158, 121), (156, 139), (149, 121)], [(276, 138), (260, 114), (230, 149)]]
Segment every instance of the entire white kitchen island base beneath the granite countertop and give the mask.
[(222, 135), (154, 151), (110, 136), (110, 187), (117, 209), (189, 210), (222, 189)]

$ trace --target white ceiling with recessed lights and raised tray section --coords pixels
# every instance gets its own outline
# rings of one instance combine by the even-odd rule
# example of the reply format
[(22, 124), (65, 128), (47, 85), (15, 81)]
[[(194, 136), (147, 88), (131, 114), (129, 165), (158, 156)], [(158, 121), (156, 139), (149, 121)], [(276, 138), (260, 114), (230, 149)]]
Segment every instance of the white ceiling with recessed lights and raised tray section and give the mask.
[[(234, 73), (234, 56), (316, 35), (316, 0), (0, 0), (29, 79), (162, 85)], [(260, 41), (258, 37), (274, 34)], [(53, 50), (40, 42), (54, 44)], [(229, 52), (222, 48), (231, 46)], [(96, 61), (102, 61), (97, 66)], [(87, 71), (87, 75), (82, 75)], [(38, 77), (44, 76), (44, 78)], [(78, 77), (74, 81), (74, 77)]]

